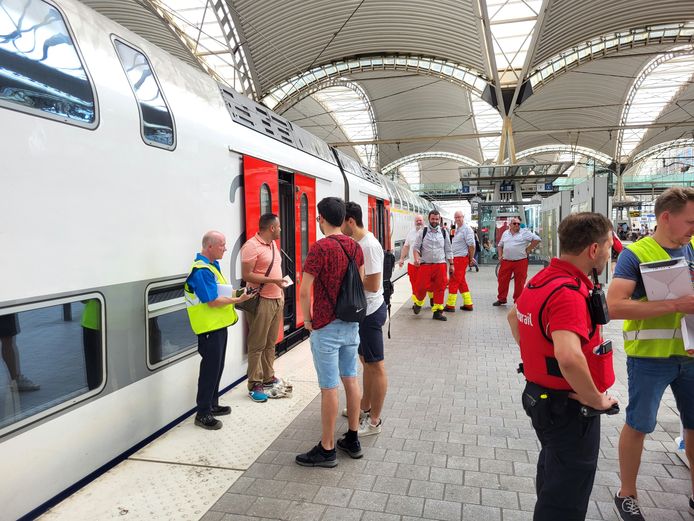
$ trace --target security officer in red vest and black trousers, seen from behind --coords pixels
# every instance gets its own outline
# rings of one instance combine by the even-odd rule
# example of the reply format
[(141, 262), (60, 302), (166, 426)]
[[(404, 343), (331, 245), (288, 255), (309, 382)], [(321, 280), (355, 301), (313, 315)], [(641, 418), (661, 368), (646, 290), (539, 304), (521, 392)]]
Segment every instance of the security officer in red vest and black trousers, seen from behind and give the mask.
[(600, 414), (618, 412), (612, 350), (601, 338), (607, 306), (594, 280), (612, 247), (603, 215), (572, 214), (559, 225), (560, 257), (528, 283), (508, 315), (527, 384), (523, 408), (542, 447), (533, 521), (583, 521), (600, 449)]

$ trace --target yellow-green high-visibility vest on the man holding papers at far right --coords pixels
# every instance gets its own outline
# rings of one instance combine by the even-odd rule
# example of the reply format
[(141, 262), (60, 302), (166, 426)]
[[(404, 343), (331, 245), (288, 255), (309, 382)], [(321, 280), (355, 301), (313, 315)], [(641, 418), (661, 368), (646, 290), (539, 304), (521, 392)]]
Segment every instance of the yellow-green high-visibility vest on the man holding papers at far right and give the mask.
[[(627, 248), (639, 262), (670, 259), (670, 255), (652, 237), (644, 237)], [(641, 300), (647, 301), (648, 298), (644, 296)], [(682, 313), (669, 313), (642, 320), (625, 320), (622, 334), (627, 355), (640, 358), (687, 356), (680, 328), (683, 316)]]

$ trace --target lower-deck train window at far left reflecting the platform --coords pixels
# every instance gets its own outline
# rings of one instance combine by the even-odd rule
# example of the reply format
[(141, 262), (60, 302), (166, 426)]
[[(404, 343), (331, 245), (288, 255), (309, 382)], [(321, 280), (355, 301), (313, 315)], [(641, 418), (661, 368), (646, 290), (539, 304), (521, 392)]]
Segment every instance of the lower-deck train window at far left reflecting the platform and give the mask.
[(101, 386), (101, 308), (101, 300), (89, 298), (0, 310), (0, 429)]

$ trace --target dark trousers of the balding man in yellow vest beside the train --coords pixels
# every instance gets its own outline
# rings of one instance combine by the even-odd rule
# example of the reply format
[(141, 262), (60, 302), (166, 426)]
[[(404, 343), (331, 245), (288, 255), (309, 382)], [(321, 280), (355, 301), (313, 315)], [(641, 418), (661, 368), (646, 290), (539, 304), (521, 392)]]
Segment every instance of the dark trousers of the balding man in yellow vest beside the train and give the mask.
[(217, 329), (198, 335), (200, 375), (198, 376), (198, 414), (209, 414), (212, 407), (219, 405), (219, 382), (224, 371), (227, 350), (227, 328)]

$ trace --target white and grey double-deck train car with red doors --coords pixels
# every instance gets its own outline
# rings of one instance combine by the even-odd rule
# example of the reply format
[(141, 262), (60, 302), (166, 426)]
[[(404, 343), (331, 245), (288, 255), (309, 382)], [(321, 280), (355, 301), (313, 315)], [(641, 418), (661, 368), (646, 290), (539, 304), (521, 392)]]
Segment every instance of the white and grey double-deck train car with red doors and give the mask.
[[(2, 4), (0, 518), (16, 519), (192, 413), (182, 288), (205, 231), (237, 285), (258, 217), (280, 216), (297, 282), (281, 351), (306, 337), (321, 198), (359, 202), (396, 255), (430, 203), (76, 0)], [(245, 378), (242, 322), (224, 388)]]

